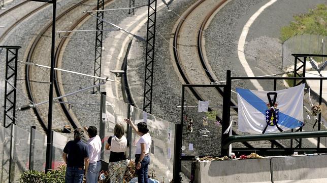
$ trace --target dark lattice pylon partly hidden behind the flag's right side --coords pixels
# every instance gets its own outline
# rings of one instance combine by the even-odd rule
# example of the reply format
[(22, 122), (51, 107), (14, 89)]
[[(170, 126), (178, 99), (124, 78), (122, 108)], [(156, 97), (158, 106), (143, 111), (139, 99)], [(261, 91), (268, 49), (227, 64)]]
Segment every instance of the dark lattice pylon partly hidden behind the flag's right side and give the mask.
[[(294, 74), (293, 77), (305, 77), (306, 76), (306, 55), (297, 55), (292, 54), (294, 56)], [(299, 63), (299, 64), (298, 64)], [(305, 83), (304, 79), (300, 80), (293, 80), (293, 86), (298, 86), (302, 83)], [(293, 129), (291, 130), (293, 131)], [(302, 131), (302, 127), (297, 129), (296, 131)], [(302, 139), (291, 139), (290, 140), (290, 147), (293, 147), (293, 142), (297, 143), (295, 144), (295, 148), (302, 148)]]

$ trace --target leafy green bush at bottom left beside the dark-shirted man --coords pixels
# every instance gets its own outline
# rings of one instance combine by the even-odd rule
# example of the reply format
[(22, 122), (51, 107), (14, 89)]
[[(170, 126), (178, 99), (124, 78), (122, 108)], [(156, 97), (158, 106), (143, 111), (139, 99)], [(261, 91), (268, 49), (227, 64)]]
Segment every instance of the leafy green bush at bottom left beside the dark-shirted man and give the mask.
[(47, 173), (36, 170), (27, 170), (18, 179), (21, 183), (63, 183), (66, 174), (66, 166), (62, 165), (58, 170)]

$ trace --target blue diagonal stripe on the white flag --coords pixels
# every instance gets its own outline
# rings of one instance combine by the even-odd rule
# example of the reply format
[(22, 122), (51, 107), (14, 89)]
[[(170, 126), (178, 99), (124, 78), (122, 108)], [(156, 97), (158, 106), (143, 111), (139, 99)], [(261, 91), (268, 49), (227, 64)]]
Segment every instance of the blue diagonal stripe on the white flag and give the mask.
[[(252, 107), (254, 107), (256, 110), (260, 111), (264, 115), (266, 115), (266, 109), (267, 105), (266, 102), (258, 98), (255, 94), (253, 94), (249, 89), (241, 89), (236, 88), (236, 91), (240, 96), (246, 100)], [(263, 119), (265, 120), (265, 119)], [(303, 125), (302, 121), (299, 121), (296, 118), (293, 118), (291, 116), (288, 116), (279, 110), (279, 121), (277, 123), (278, 125), (283, 125), (287, 128), (296, 128)]]

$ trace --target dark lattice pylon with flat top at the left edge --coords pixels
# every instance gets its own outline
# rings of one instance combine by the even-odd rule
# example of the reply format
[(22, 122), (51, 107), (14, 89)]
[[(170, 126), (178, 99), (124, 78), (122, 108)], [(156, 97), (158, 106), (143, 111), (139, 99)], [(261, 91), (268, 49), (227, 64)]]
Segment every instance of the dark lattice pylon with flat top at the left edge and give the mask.
[(0, 48), (6, 48), (4, 127), (8, 128), (12, 123), (16, 124), (17, 61), (18, 49), (21, 47), (0, 46)]

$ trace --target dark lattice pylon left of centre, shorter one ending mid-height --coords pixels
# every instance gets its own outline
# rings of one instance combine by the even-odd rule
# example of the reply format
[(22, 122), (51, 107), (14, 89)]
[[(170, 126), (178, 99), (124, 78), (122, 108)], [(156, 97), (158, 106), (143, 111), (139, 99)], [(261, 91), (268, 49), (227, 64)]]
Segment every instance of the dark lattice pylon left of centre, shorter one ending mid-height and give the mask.
[[(104, 10), (105, 1), (97, 0), (97, 10)], [(94, 54), (94, 76), (101, 77), (101, 59), (102, 59), (102, 37), (103, 37), (103, 18), (104, 12), (98, 11), (96, 12), (96, 36), (95, 36), (95, 54)], [(99, 78), (93, 79), (93, 84), (100, 83), (101, 80)], [(100, 85), (93, 88), (93, 94), (97, 94), (100, 92)]]

